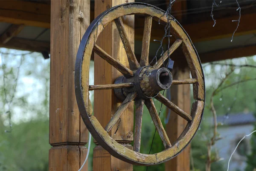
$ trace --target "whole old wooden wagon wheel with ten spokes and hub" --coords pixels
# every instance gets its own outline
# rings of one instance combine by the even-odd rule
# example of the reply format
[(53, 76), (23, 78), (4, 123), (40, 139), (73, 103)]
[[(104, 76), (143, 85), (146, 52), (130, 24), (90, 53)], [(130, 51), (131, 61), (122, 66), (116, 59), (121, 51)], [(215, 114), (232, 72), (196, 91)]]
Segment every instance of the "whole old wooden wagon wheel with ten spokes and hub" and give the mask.
[[(145, 16), (145, 26), (147, 27), (147, 29), (144, 29), (143, 54), (140, 64), (138, 63), (133, 49), (131, 48), (131, 44), (128, 41), (121, 18), (124, 15), (131, 14)], [(163, 10), (145, 3), (126, 3), (115, 6), (103, 12), (93, 20), (81, 40), (76, 57), (76, 99), (85, 125), (99, 145), (105, 148), (114, 157), (131, 164), (154, 165), (166, 162), (167, 160), (175, 157), (184, 148), (186, 148), (192, 140), (198, 130), (204, 111), (205, 87), (201, 62), (195, 47), (189, 39), (189, 36), (176, 20), (172, 20), (170, 23), (171, 34), (175, 37), (176, 41), (169, 48), (169, 54), (172, 54), (172, 52), (174, 52), (179, 46), (182, 47), (192, 78), (172, 81), (171, 72), (166, 68), (160, 68), (163, 61), (168, 58), (168, 52), (165, 52), (153, 66), (145, 67), (148, 65), (150, 39), (150, 35), (147, 34), (147, 32), (149, 31), (150, 33), (152, 20), (156, 20), (157, 22), (160, 21), (160, 23), (164, 25), (168, 22), (166, 16), (163, 15)], [(112, 58), (103, 49), (96, 45), (98, 35), (102, 32), (105, 26), (112, 21), (116, 23), (118, 28), (122, 43), (128, 56), (130, 69)], [(124, 76), (117, 78), (115, 84), (89, 86), (89, 66), (92, 52), (98, 54), (101, 58), (119, 70)], [(171, 84), (193, 84), (195, 102), (192, 104), (190, 115), (159, 93), (161, 90), (169, 88)], [(105, 128), (102, 128), (102, 125), (98, 122), (96, 117), (92, 115), (92, 107), (89, 99), (90, 90), (103, 89), (115, 89), (114, 92), (116, 96), (119, 99), (124, 100)], [(187, 121), (187, 125), (183, 133), (181, 133), (180, 137), (173, 144), (170, 143), (166, 131), (163, 128), (152, 98), (155, 98), (165, 104), (166, 107), (169, 107)], [(109, 136), (108, 132), (118, 121), (123, 111), (134, 100), (136, 107), (134, 150), (131, 150), (117, 143), (111, 138), (111, 136)], [(144, 102), (166, 148), (164, 151), (157, 154), (140, 153), (141, 121)]]

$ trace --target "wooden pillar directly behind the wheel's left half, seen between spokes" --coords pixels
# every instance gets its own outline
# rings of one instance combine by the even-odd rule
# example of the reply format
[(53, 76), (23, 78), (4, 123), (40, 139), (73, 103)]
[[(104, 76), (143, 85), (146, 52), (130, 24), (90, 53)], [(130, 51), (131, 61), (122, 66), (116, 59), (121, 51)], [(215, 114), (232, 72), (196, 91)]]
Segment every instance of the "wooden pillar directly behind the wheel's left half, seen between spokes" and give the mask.
[[(134, 0), (96, 0), (95, 17), (105, 10), (122, 3), (134, 2)], [(122, 17), (125, 24), (129, 41), (134, 46), (134, 16)], [(122, 64), (128, 66), (128, 58), (123, 48), (119, 32), (114, 22), (104, 28), (99, 35), (97, 44), (109, 55)], [(134, 48), (134, 47), (133, 47)], [(94, 83), (95, 84), (113, 84), (115, 79), (120, 76), (120, 72), (114, 67), (94, 55)], [(111, 116), (116, 112), (121, 101), (116, 99), (113, 90), (97, 90), (94, 92), (94, 116), (101, 123), (103, 128), (108, 124)], [(134, 106), (131, 104), (122, 114), (120, 120), (114, 125), (110, 134), (119, 143), (123, 143), (132, 149), (130, 145), (133, 140), (133, 119)], [(133, 166), (112, 157), (100, 145), (93, 150), (93, 171), (132, 171)]]

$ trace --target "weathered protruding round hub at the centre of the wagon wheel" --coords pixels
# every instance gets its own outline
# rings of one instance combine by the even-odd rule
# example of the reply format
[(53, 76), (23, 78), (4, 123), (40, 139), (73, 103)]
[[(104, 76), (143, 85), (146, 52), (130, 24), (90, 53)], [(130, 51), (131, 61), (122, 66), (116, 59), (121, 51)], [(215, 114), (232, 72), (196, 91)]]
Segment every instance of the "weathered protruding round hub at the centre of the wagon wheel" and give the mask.
[(116, 97), (125, 100), (128, 93), (136, 91), (142, 99), (151, 99), (157, 94), (171, 87), (172, 73), (167, 68), (154, 69), (151, 66), (140, 67), (132, 78), (120, 76), (116, 78), (115, 84), (132, 83), (134, 87), (115, 89)]

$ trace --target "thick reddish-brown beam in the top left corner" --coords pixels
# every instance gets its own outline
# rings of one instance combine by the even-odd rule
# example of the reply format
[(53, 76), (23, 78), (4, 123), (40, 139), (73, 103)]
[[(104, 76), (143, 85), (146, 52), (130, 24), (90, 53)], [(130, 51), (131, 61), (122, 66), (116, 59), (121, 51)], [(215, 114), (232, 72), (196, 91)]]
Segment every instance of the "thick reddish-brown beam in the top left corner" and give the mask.
[(21, 0), (2, 0), (0, 22), (50, 28), (49, 4)]

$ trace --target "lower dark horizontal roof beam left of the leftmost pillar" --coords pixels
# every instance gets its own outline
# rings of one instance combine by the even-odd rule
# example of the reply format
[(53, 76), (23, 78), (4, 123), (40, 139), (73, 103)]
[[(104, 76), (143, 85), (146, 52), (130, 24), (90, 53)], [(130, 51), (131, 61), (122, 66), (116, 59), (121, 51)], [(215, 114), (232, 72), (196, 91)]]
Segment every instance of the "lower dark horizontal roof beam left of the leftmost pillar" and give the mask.
[(7, 43), (0, 43), (0, 47), (9, 49), (28, 50), (33, 52), (50, 52), (50, 43), (43, 41), (33, 41), (23, 38), (12, 38)]

